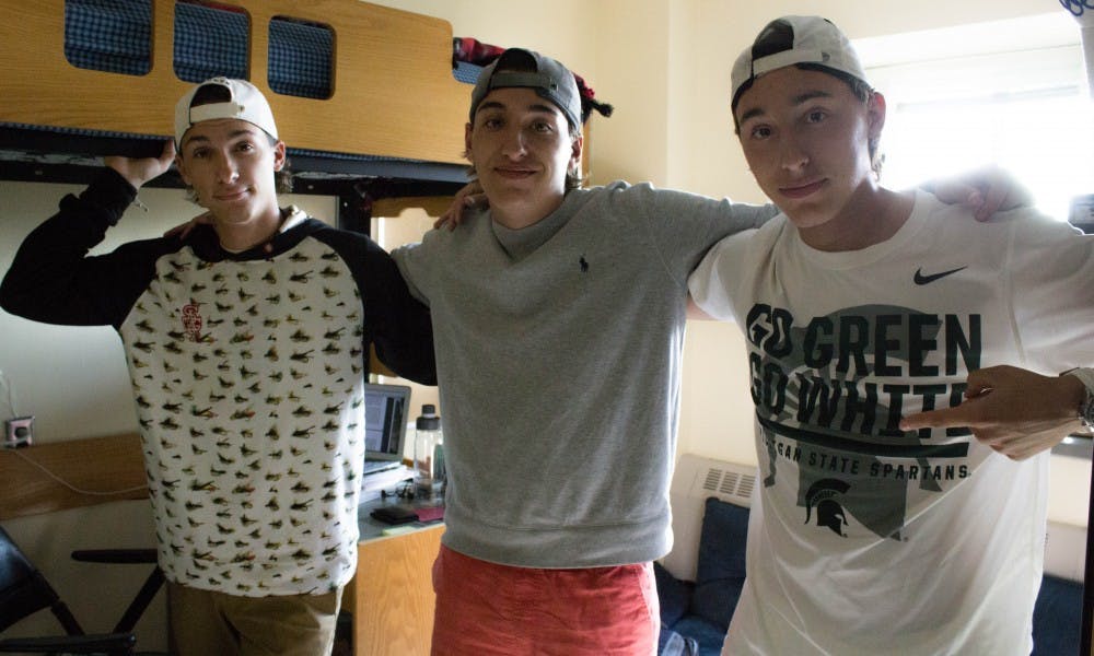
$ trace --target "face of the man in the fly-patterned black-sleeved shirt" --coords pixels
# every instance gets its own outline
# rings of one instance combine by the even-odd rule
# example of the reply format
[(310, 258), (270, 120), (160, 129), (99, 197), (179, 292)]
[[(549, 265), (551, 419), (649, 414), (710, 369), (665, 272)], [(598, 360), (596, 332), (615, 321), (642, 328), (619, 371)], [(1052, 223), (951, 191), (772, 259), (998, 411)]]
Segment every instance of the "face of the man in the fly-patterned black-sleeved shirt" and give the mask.
[(284, 166), (284, 143), (270, 141), (257, 126), (234, 118), (196, 124), (183, 139), (178, 172), (198, 204), (212, 212), (222, 242), (225, 232), (259, 234), (280, 222), (275, 173)]

